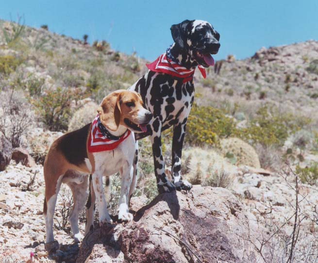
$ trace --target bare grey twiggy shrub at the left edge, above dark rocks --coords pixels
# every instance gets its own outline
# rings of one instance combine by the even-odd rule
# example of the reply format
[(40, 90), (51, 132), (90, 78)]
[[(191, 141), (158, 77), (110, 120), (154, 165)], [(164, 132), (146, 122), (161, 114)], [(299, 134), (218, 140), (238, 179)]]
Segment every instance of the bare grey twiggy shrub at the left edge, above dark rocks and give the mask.
[(13, 147), (19, 147), (23, 136), (32, 128), (34, 115), (22, 91), (0, 92), (0, 132)]

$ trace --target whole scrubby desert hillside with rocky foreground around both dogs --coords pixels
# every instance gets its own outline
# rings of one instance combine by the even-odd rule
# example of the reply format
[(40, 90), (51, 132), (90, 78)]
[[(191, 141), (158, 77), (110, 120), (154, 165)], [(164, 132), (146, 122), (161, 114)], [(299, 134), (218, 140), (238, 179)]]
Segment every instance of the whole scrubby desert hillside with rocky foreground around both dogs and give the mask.
[[(38, 262), (75, 262), (78, 254), (81, 262), (147, 262), (146, 257), (160, 262), (162, 255), (153, 248), (166, 240), (173, 246), (160, 251), (171, 262), (286, 262), (291, 249), (294, 262), (316, 262), (317, 53), (318, 41), (310, 40), (262, 48), (244, 60), (229, 55), (207, 70), (206, 79), (197, 71), (182, 167), (196, 186), (187, 197), (177, 194), (181, 219), (167, 201), (171, 196), (157, 196), (146, 138), (139, 146), (135, 221), (114, 226), (122, 239), (109, 243), (100, 234), (109, 229), (98, 228), (92, 236), (99, 243), (87, 237), (89, 247), (72, 244), (67, 222), (72, 199), (63, 187), (54, 219), (59, 246), (49, 255), (43, 244), (42, 165), (50, 144), (91, 122), (101, 99), (132, 85), (146, 71), (146, 61), (114, 51), (102, 39), (89, 45), (45, 27), (0, 20), (0, 259), (25, 262), (35, 252)], [(170, 131), (163, 137), (170, 170)], [(114, 175), (108, 204), (113, 215), (119, 189), (120, 178)], [(215, 201), (210, 204), (209, 198)], [(191, 232), (187, 219), (200, 231), (217, 230), (201, 240), (201, 232)], [(83, 211), (82, 231), (84, 226)], [(152, 236), (139, 238), (140, 229)], [(215, 246), (209, 250), (211, 242)], [(208, 251), (210, 261), (201, 251)]]

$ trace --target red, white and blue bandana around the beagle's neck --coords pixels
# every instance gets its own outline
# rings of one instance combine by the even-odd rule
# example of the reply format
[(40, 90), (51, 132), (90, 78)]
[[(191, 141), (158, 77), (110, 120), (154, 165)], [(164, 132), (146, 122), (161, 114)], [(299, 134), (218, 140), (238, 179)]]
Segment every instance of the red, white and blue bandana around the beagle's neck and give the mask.
[(92, 123), (87, 141), (87, 149), (90, 153), (114, 150), (131, 134), (131, 131), (127, 129), (127, 131), (117, 139), (115, 139), (115, 136), (115, 138), (109, 139), (105, 133), (100, 130), (98, 123), (99, 116), (97, 116)]

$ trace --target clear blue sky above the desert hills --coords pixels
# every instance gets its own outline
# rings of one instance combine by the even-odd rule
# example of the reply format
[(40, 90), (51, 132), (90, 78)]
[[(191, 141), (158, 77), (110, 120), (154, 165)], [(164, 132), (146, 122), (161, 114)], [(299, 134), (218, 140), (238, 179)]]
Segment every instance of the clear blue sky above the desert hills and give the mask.
[(155, 59), (172, 43), (171, 24), (209, 21), (220, 33), (215, 59), (251, 56), (261, 47), (318, 40), (318, 0), (10, 0), (0, 18), (24, 15), (33, 27), (74, 38), (89, 35), (125, 53)]

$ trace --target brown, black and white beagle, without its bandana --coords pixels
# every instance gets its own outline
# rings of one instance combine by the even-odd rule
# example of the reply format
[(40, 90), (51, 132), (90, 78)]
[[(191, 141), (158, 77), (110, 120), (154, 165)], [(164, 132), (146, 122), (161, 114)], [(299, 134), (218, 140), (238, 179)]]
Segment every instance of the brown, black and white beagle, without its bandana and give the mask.
[(134, 192), (136, 185), (137, 161), (134, 161), (134, 156), (137, 149), (134, 133), (145, 130), (152, 114), (143, 107), (142, 99), (137, 92), (122, 89), (106, 96), (97, 111), (96, 118), (100, 121), (99, 125), (102, 125), (102, 129), (105, 128), (110, 138), (123, 138), (124, 135), (126, 137), (114, 150), (91, 152), (89, 141), (93, 134), (91, 132), (93, 124), (90, 123), (79, 130), (61, 136), (52, 143), (44, 162), (43, 213), (46, 223), (46, 243), (54, 240), (53, 216), (57, 194), (62, 183), (66, 183), (73, 194), (74, 207), (70, 213), (69, 222), (74, 240), (80, 242), (83, 238), (78, 228), (78, 219), (87, 199), (89, 174), (92, 175), (93, 193), (86, 211), (85, 234), (93, 226), (95, 199), (100, 224), (112, 223), (103, 192), (102, 176), (108, 178), (117, 172), (120, 173), (122, 183), (118, 219), (123, 221), (133, 219), (133, 215), (129, 213), (128, 204), (129, 196)]

